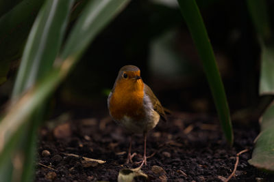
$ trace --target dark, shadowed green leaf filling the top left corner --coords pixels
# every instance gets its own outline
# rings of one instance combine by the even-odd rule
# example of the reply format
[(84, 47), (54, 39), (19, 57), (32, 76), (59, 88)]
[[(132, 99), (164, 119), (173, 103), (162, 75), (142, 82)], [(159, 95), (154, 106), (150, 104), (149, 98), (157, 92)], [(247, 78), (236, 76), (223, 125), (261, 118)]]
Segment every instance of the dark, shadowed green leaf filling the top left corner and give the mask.
[(24, 0), (20, 3), (17, 3), (18, 1), (1, 2), (3, 6), (0, 7), (7, 8), (5, 10), (8, 10), (8, 7), (13, 6), (13, 8), (10, 8), (10, 11), (3, 14), (0, 18), (0, 85), (5, 82), (11, 64), (18, 64), (18, 59), (21, 57), (29, 30), (44, 1)]

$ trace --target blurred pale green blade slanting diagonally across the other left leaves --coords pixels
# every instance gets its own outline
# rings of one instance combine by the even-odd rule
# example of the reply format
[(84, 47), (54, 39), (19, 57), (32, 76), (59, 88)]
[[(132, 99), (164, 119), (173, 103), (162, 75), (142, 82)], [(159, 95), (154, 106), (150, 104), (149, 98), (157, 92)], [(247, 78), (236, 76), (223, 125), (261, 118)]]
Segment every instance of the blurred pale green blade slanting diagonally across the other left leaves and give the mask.
[[(24, 95), (16, 100), (9, 112), (1, 121), (0, 164), (1, 159), (3, 160), (3, 157), (6, 157), (7, 153), (10, 152), (10, 147), (7, 147), (7, 145), (10, 144), (10, 140), (14, 138), (14, 135), (16, 135), (18, 131), (20, 131), (22, 125), (29, 122), (27, 119), (32, 115), (34, 110), (36, 110), (42, 102), (45, 102), (47, 97), (49, 97), (54, 89), (58, 87), (64, 77), (69, 74), (71, 68), (77, 62), (77, 59), (79, 59), (79, 56), (84, 52), (92, 38), (94, 38), (111, 20), (111, 18), (114, 18), (114, 16), (119, 13), (128, 2), (128, 0), (97, 0), (88, 3), (84, 12), (77, 21), (75, 29), (73, 29), (72, 33), (69, 35), (70, 41), (67, 43), (75, 44), (77, 45), (77, 48), (73, 45), (65, 46), (67, 52), (62, 55), (63, 57), (66, 57), (66, 59), (58, 59), (60, 60), (58, 62), (59, 64), (57, 63), (53, 70), (51, 70), (46, 76), (43, 76), (34, 87), (28, 89)], [(104, 14), (102, 14), (102, 12), (104, 12)], [(84, 35), (82, 33), (84, 33)], [(79, 44), (81, 45), (79, 46)]]

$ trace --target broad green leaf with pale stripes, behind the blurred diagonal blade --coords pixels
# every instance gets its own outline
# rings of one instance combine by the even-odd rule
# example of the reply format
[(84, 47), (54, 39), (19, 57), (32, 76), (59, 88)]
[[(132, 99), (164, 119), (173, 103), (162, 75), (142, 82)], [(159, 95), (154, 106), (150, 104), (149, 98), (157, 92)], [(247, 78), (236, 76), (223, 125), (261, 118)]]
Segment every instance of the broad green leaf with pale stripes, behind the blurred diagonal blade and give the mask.
[(29, 33), (12, 96), (19, 95), (53, 67), (73, 0), (47, 1)]

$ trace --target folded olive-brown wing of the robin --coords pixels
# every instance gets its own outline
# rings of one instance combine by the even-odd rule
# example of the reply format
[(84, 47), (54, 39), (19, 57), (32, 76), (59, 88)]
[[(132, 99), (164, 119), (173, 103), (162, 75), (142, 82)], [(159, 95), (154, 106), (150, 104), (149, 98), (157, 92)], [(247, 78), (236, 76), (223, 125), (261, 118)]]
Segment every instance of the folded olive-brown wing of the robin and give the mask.
[(162, 107), (160, 101), (158, 98), (154, 95), (153, 91), (145, 84), (145, 93), (149, 96), (149, 99), (151, 100), (151, 103), (153, 105), (153, 109), (158, 112), (160, 115), (161, 119), (163, 121), (166, 121), (166, 113), (164, 112), (164, 108)]

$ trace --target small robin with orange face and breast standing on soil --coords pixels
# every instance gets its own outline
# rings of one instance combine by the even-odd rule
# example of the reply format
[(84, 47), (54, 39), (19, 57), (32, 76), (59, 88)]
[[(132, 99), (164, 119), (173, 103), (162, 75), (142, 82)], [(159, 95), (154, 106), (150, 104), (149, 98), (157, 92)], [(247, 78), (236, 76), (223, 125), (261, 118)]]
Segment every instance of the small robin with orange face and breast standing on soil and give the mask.
[[(140, 167), (147, 165), (147, 132), (158, 124), (166, 121), (165, 109), (154, 95), (153, 91), (142, 82), (140, 69), (135, 65), (125, 65), (121, 68), (115, 80), (114, 87), (108, 95), (108, 109), (114, 121), (125, 127), (131, 133), (143, 134), (144, 155)], [(127, 163), (132, 162), (132, 137), (130, 137)]]

